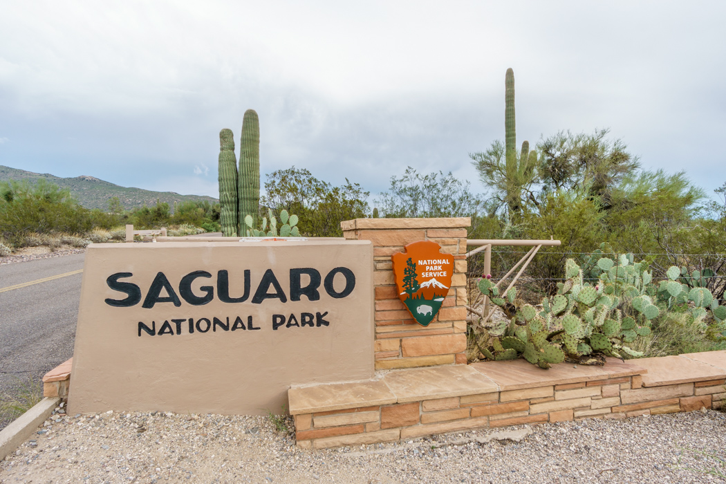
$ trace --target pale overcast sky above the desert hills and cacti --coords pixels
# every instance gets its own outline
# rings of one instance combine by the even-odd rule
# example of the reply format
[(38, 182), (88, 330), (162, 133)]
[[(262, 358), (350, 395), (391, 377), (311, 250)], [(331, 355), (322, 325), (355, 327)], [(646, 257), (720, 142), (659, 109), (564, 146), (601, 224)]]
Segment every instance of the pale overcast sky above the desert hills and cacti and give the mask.
[[(262, 173), (373, 193), (410, 165), (611, 128), (645, 168), (726, 181), (724, 1), (0, 0), (0, 165), (217, 189), (219, 131), (260, 118)], [(264, 175), (263, 175), (264, 181)]]

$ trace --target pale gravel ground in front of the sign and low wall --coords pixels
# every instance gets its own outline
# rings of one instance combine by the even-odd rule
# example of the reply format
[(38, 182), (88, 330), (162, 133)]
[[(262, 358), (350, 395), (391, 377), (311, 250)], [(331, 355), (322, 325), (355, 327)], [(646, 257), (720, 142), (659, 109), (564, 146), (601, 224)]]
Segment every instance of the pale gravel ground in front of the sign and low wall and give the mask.
[(723, 483), (725, 427), (703, 411), (301, 451), (267, 417), (57, 414), (0, 483)]

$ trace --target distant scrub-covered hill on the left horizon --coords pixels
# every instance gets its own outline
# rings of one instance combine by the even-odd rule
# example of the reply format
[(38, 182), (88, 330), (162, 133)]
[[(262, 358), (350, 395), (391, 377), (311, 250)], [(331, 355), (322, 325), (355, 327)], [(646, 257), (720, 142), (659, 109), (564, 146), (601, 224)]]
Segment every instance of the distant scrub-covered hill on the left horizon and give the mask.
[(81, 206), (99, 208), (100, 210), (108, 210), (108, 201), (113, 197), (118, 197), (118, 200), (121, 200), (121, 205), (126, 210), (139, 208), (144, 204), (148, 206), (156, 205), (156, 199), (168, 203), (171, 207), (174, 206), (174, 202), (187, 202), (189, 200), (207, 200), (211, 203), (219, 201), (216, 198), (200, 195), (180, 195), (175, 192), (152, 192), (140, 188), (127, 188), (126, 186), (118, 186), (108, 181), (99, 180), (93, 176), (82, 175), (76, 176), (76, 178), (60, 178), (49, 173), (33, 173), (32, 171), (18, 170), (17, 168), (0, 165), (0, 181), (36, 181), (38, 179), (46, 179), (61, 188), (67, 188)]

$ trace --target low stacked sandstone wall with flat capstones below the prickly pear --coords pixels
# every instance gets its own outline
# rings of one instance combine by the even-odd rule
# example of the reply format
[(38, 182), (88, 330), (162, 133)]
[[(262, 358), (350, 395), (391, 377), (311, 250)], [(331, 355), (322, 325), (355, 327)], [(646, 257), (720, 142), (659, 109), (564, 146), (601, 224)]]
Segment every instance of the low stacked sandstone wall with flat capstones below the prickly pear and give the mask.
[(396, 370), (292, 388), (298, 447), (420, 438), (483, 427), (718, 409), (726, 351), (542, 370), (523, 360)]

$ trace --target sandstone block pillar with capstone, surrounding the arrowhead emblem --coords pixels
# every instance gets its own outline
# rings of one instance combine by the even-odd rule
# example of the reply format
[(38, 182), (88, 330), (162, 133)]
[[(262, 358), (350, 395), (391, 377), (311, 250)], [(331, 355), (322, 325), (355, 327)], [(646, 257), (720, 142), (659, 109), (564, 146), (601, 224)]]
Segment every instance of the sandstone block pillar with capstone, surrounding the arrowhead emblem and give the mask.
[[(346, 239), (373, 242), (375, 368), (396, 369), (466, 363), (466, 228), (470, 218), (358, 218), (340, 223)], [(428, 327), (399, 300), (391, 255), (404, 245), (433, 240), (454, 255), (449, 295)]]

